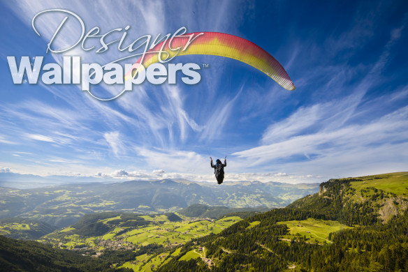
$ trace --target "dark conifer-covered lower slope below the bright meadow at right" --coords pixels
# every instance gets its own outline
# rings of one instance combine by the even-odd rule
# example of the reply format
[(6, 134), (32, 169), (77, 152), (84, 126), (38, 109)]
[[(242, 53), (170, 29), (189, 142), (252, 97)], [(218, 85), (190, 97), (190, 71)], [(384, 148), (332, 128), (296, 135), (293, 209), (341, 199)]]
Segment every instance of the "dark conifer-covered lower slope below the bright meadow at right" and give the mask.
[[(282, 239), (286, 225), (265, 223), (270, 217), (283, 220), (281, 216), (284, 214), (271, 211), (242, 220), (217, 236), (187, 243), (159, 271), (408, 271), (407, 211), (385, 225), (330, 234), (332, 241), (326, 245), (296, 235)], [(185, 257), (200, 248), (205, 257)]]

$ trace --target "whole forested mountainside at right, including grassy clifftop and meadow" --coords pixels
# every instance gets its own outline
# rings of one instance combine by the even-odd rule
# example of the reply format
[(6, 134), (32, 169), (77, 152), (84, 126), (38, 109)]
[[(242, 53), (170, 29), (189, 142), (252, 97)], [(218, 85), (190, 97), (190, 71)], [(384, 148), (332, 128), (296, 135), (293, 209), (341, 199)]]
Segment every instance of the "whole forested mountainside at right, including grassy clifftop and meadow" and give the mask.
[[(159, 271), (408, 271), (407, 177), (402, 172), (321, 183), (319, 193), (286, 208), (187, 243)], [(396, 215), (383, 219), (390, 203)], [(194, 255), (200, 248), (205, 255)]]

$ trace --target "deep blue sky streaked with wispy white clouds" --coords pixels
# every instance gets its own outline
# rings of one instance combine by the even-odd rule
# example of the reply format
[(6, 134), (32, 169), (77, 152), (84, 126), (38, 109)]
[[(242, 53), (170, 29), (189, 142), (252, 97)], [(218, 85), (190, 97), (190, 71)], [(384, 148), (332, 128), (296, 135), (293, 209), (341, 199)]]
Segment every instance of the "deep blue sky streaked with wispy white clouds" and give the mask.
[[(297, 89), (220, 56), (175, 59), (209, 64), (196, 85), (145, 82), (110, 102), (73, 84), (13, 84), (7, 56), (108, 63), (129, 55), (79, 45), (46, 53), (62, 17), (39, 20), (41, 36), (31, 20), (51, 8), (71, 10), (87, 31), (130, 25), (129, 40), (180, 27), (240, 36), (275, 56)], [(226, 181), (407, 171), (406, 1), (27, 0), (1, 1), (0, 10), (0, 172), (211, 181), (208, 157), (226, 155)], [(78, 26), (67, 24), (54, 45), (72, 44)]]

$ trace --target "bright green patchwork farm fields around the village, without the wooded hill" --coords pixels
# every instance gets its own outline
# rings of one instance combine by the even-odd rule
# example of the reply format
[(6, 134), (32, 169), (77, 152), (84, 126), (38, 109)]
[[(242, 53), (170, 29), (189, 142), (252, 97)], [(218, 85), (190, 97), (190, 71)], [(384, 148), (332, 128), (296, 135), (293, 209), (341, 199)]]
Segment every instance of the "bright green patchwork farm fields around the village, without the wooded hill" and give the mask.
[(140, 216), (147, 225), (138, 227), (121, 227), (124, 220), (120, 216), (104, 218), (97, 223), (110, 225), (110, 230), (103, 235), (83, 236), (75, 233), (75, 228), (67, 227), (46, 235), (40, 241), (51, 243), (64, 249), (118, 249), (139, 248), (145, 245), (177, 246), (191, 239), (208, 234), (219, 234), (223, 229), (242, 220), (238, 216), (229, 216), (219, 220), (180, 217), (180, 221), (172, 222), (168, 216)]

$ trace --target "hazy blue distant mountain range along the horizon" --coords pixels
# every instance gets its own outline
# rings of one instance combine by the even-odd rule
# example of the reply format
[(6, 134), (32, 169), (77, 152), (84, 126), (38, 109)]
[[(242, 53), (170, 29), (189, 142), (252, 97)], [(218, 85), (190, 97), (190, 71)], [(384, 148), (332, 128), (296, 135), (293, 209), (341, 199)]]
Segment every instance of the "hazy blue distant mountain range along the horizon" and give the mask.
[(57, 227), (87, 213), (165, 213), (191, 204), (244, 208), (282, 207), (319, 190), (319, 183), (204, 183), (170, 179), (117, 183), (75, 183), (42, 188), (0, 188), (0, 218), (31, 218)]

